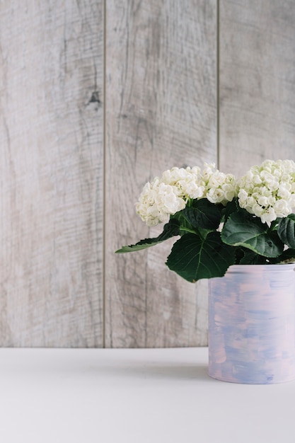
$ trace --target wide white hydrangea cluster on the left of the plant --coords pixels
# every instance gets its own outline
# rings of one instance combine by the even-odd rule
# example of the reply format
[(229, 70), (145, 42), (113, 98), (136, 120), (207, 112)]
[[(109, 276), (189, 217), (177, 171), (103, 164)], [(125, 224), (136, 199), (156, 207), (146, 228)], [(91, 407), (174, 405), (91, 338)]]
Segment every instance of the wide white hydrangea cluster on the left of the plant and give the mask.
[(161, 178), (146, 183), (135, 204), (137, 214), (148, 226), (168, 221), (190, 199), (205, 198), (212, 203), (233, 200), (236, 195), (236, 180), (231, 174), (213, 171), (214, 164), (200, 168), (172, 168), (163, 172)]

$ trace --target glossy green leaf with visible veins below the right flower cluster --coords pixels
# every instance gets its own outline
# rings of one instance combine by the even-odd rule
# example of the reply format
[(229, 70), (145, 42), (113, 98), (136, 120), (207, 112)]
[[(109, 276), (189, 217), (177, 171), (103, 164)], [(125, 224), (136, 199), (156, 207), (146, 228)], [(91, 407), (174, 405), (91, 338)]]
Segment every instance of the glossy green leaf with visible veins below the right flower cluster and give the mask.
[(224, 224), (221, 239), (227, 245), (243, 246), (264, 257), (278, 257), (284, 249), (277, 231), (268, 232), (267, 224), (240, 212), (231, 214)]

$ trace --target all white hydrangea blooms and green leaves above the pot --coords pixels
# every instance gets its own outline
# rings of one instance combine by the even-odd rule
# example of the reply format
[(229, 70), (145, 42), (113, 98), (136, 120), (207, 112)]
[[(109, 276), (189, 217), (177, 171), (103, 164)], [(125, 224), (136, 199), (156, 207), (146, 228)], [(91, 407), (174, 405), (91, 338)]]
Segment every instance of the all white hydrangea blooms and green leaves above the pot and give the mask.
[(266, 160), (236, 179), (214, 164), (172, 168), (146, 183), (136, 203), (148, 226), (165, 223), (117, 253), (178, 237), (166, 265), (189, 282), (222, 277), (231, 265), (295, 261), (295, 163)]

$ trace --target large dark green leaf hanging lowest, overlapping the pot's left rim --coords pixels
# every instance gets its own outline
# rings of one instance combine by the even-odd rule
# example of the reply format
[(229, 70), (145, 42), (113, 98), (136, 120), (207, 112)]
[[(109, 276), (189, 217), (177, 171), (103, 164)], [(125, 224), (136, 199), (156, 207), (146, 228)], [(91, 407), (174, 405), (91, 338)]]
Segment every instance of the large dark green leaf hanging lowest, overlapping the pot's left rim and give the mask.
[(206, 238), (185, 234), (168, 256), (166, 265), (189, 282), (202, 278), (222, 277), (235, 263), (235, 250), (222, 243), (219, 232), (210, 232)]

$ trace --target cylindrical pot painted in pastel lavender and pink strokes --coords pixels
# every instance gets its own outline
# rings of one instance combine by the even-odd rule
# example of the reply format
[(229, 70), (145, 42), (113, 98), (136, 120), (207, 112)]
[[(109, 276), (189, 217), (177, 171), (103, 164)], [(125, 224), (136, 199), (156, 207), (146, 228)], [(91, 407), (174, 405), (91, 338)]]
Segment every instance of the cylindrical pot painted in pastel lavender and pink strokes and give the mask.
[(295, 379), (295, 272), (233, 265), (209, 279), (209, 376), (243, 384)]

